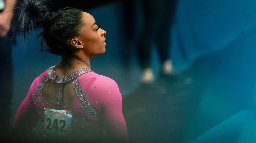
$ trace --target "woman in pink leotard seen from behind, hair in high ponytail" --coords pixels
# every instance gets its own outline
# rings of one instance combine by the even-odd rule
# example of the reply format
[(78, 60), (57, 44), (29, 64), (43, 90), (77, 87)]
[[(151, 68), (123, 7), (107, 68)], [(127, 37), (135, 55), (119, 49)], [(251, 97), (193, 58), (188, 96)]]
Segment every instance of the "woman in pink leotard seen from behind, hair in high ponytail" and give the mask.
[[(33, 81), (15, 116), (14, 133), (28, 141), (32, 134), (57, 142), (126, 141), (119, 88), (90, 66), (91, 58), (105, 53), (106, 31), (93, 16), (78, 9), (54, 13), (40, 0), (24, 0), (16, 7), (23, 37), (41, 24), (41, 50), (62, 60)], [(37, 135), (34, 128), (40, 120), (44, 131)]]

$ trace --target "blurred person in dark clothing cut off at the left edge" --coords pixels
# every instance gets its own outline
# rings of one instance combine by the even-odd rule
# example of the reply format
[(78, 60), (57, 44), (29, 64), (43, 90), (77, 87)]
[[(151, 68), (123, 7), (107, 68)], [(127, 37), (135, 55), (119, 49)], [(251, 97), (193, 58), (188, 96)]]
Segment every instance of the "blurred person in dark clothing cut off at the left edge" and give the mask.
[(0, 0), (0, 138), (9, 135), (11, 125), (11, 99), (13, 96), (13, 62), (11, 28), (16, 0)]

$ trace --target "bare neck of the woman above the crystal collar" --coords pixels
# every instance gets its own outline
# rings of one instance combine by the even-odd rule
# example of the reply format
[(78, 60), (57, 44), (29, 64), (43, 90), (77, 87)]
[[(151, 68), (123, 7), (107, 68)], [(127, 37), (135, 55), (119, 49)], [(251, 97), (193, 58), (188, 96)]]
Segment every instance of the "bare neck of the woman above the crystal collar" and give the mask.
[(55, 72), (60, 76), (65, 76), (82, 68), (91, 68), (89, 58), (62, 58), (62, 61), (55, 66)]

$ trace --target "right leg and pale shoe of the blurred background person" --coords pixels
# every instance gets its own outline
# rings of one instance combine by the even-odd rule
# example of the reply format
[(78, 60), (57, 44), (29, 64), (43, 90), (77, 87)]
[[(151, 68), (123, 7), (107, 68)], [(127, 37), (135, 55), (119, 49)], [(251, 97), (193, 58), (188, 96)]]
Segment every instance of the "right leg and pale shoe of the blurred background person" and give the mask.
[(165, 0), (164, 13), (161, 19), (161, 27), (158, 30), (157, 50), (162, 64), (162, 74), (169, 75), (173, 72), (173, 64), (170, 56), (171, 27), (176, 11), (177, 0)]

